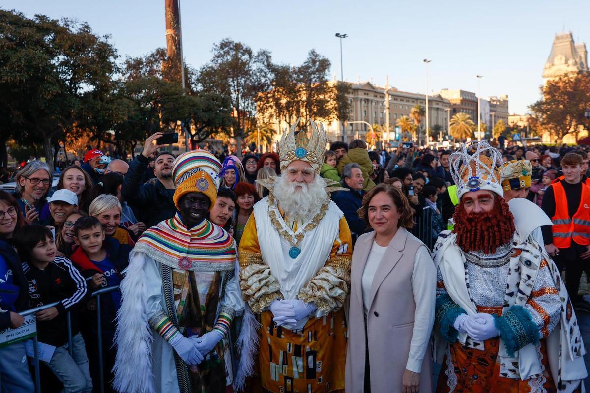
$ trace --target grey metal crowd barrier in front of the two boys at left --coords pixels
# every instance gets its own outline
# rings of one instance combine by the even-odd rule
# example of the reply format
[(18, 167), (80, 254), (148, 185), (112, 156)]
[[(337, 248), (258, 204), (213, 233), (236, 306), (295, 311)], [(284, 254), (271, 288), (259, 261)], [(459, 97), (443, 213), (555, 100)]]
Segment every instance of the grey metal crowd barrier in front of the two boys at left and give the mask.
[[(87, 279), (88, 280), (88, 279)], [(102, 338), (102, 326), (101, 326), (101, 316), (100, 316), (100, 295), (104, 295), (104, 293), (114, 292), (115, 290), (119, 290), (119, 285), (115, 286), (108, 286), (107, 288), (95, 290), (91, 298), (96, 297), (96, 314), (97, 314), (97, 331), (98, 331), (98, 346), (99, 346), (99, 375), (100, 375), (100, 393), (104, 393), (104, 365), (103, 365), (103, 338)], [(19, 312), (19, 315), (26, 316), (38, 313), (43, 311), (44, 309), (48, 309), (54, 306), (57, 306), (60, 302), (54, 302), (46, 305), (42, 305), (39, 307), (31, 308), (25, 310), (24, 312)], [(71, 316), (70, 312), (68, 311), (67, 321), (68, 321), (68, 350), (70, 351), (70, 355), (72, 354), (72, 328), (71, 328)], [(32, 338), (33, 340), (33, 349), (35, 354), (34, 359), (34, 366), (35, 366), (35, 392), (41, 393), (41, 373), (40, 373), (40, 364), (39, 364), (39, 351), (37, 348), (38, 339), (37, 335)], [(86, 344), (86, 343), (85, 343)]]

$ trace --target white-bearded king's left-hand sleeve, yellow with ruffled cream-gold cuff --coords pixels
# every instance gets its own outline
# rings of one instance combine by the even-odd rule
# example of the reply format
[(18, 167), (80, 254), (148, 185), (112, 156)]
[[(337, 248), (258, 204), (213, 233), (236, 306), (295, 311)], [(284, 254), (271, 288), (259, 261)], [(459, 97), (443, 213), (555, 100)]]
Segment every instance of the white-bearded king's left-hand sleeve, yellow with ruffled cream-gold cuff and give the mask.
[(248, 219), (240, 240), (240, 288), (242, 296), (255, 313), (260, 313), (276, 299), (282, 299), (278, 280), (265, 265), (258, 243), (254, 214)]

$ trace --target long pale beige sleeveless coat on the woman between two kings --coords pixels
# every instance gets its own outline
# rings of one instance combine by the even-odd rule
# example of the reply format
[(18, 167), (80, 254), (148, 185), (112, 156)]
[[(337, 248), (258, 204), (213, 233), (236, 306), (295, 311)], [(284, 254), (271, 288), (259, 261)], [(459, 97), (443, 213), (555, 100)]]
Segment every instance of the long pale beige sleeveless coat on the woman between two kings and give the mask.
[[(362, 393), (364, 388), (367, 343), (362, 275), (374, 239), (375, 232), (360, 236), (352, 253), (346, 393)], [(421, 246), (424, 247), (424, 243), (417, 237), (399, 228), (375, 272), (371, 290), (373, 301), (366, 321), (371, 393), (402, 391), (416, 308), (411, 277), (414, 257)], [(430, 345), (422, 362), (420, 392), (432, 392)]]

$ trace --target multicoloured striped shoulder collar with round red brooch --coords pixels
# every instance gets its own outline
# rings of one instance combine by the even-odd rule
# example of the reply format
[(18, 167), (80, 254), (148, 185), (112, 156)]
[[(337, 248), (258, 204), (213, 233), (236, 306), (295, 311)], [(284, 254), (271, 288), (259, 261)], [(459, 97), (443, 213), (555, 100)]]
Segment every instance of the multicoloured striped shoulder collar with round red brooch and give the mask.
[(178, 212), (146, 230), (134, 250), (174, 269), (207, 272), (232, 270), (236, 258), (234, 240), (224, 229), (209, 220), (188, 229)]

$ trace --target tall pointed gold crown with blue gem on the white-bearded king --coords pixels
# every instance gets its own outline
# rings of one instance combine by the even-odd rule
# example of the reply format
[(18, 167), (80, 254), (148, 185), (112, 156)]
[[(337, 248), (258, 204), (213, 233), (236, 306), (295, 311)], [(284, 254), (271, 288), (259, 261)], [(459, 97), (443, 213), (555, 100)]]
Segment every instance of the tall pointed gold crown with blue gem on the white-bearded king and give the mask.
[(326, 154), (327, 134), (322, 123), (310, 120), (312, 124), (312, 136), (307, 137), (306, 130), (297, 130), (299, 121), (286, 129), (278, 143), (278, 156), (280, 157), (281, 171), (293, 161), (301, 160), (310, 164), (316, 173), (319, 173)]

